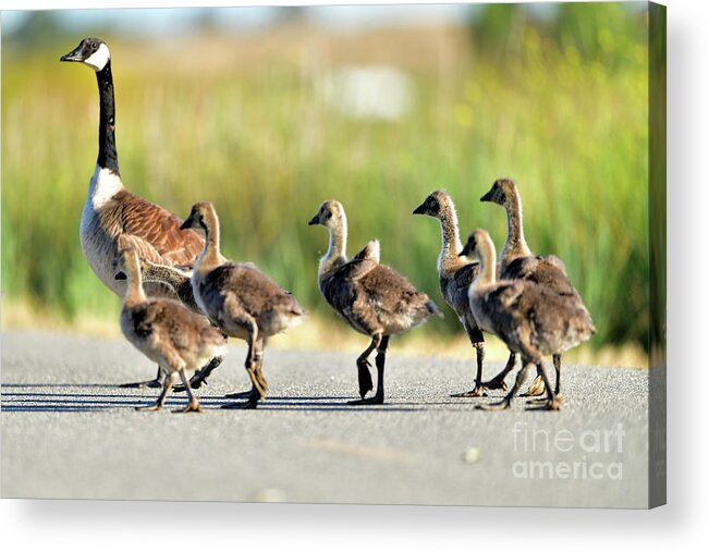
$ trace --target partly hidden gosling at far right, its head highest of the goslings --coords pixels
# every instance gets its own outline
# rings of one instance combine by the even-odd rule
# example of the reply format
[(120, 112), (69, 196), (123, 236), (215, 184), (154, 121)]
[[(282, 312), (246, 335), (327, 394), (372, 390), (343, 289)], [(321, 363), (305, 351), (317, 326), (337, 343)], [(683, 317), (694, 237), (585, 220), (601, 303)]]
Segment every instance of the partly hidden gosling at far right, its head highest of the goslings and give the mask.
[[(508, 216), (508, 238), (500, 252), (500, 279), (528, 280), (543, 284), (559, 295), (576, 297), (580, 300), (578, 292), (569, 281), (564, 262), (555, 255), (538, 256), (529, 249), (522, 223), (522, 197), (512, 180), (497, 180), (490, 191), (480, 198), (480, 201), (501, 205)], [(561, 355), (554, 355), (552, 359), (557, 372), (554, 394), (561, 397)], [(512, 359), (512, 364), (508, 363), (498, 378), (504, 378), (514, 367), (514, 361), (515, 359)], [(541, 395), (543, 392), (541, 375), (537, 375), (525, 394), (535, 396)]]

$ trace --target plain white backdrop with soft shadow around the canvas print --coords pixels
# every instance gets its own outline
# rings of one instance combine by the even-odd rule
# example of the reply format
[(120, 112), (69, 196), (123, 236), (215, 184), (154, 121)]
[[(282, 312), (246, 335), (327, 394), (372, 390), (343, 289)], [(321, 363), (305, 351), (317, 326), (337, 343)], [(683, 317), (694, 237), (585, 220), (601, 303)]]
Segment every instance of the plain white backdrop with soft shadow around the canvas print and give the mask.
[[(192, 0), (0, 0), (0, 8), (192, 7)], [(327, 4), (278, 0), (209, 0), (210, 5)], [(334, 2), (338, 3), (338, 2)], [(400, 3), (362, 2), (347, 3)], [(502, 550), (551, 543), (579, 551), (695, 549), (709, 541), (706, 523), (709, 457), (704, 406), (706, 355), (700, 344), (707, 308), (706, 246), (709, 205), (706, 57), (709, 3), (665, 0), (669, 24), (668, 174), (668, 452), (669, 505), (652, 512), (603, 510), (330, 506), (278, 504), (8, 501), (0, 502), (0, 543), (7, 550), (73, 551), (171, 548), (338, 551)], [(3, 183), (8, 185), (8, 183)], [(696, 256), (696, 252), (700, 252)], [(699, 265), (699, 266), (697, 266)], [(704, 302), (702, 302), (704, 299)], [(696, 390), (696, 391), (695, 391)], [(2, 415), (0, 415), (1, 419)], [(549, 541), (547, 540), (549, 539)], [(602, 547), (602, 548), (601, 548)]]

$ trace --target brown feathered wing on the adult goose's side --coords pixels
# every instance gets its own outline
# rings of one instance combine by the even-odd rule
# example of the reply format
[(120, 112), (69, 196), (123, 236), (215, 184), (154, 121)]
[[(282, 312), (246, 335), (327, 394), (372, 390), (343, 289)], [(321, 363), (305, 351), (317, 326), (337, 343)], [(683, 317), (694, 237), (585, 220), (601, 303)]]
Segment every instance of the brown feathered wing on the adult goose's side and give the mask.
[[(142, 241), (157, 252), (159, 258), (148, 257), (148, 260), (168, 266), (194, 265), (201, 252), (204, 240), (192, 229), (180, 230), (180, 218), (130, 192), (117, 194), (113, 200), (115, 216), (123, 232), (136, 243)], [(147, 245), (144, 248), (147, 248)]]

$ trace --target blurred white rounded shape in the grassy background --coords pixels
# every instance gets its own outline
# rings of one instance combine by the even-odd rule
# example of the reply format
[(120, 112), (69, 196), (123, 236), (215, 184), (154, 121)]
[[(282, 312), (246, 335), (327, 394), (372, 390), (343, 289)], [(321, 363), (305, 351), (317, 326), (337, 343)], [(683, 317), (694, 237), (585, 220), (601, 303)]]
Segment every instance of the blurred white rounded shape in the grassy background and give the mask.
[(345, 66), (325, 79), (325, 101), (354, 119), (395, 121), (414, 102), (414, 85), (403, 71), (390, 65)]

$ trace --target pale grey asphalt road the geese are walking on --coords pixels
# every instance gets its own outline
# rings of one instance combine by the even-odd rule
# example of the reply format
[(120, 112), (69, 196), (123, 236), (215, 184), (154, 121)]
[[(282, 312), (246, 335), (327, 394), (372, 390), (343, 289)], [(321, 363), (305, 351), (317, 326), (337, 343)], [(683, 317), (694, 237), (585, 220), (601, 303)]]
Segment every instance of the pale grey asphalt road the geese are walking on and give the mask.
[(503, 393), (449, 396), (473, 356), (398, 356), (394, 341), (387, 404), (354, 407), (356, 355), (271, 348), (267, 402), (224, 410), (248, 387), (234, 345), (205, 413), (185, 415), (134, 410), (157, 390), (115, 384), (155, 368), (124, 341), (3, 332), (1, 347), (3, 496), (647, 505), (646, 370), (569, 366), (561, 412), (482, 412)]

